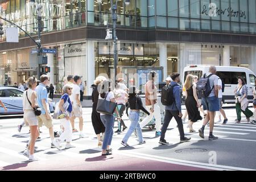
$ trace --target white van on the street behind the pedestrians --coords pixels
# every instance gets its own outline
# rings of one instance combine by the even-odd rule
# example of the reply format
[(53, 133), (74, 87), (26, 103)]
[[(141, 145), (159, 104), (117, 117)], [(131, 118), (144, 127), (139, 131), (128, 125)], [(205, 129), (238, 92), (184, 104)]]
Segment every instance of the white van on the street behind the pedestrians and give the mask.
[[(196, 75), (199, 78), (203, 77), (204, 73), (209, 72), (209, 65), (191, 65), (189, 67), (184, 68), (183, 72), (183, 85), (185, 82), (185, 78), (188, 74)], [(225, 82), (225, 90), (223, 95), (223, 102), (227, 104), (234, 104), (234, 90), (238, 84), (238, 77), (243, 77), (246, 80), (246, 84), (248, 86), (248, 100), (253, 102), (253, 89), (255, 86), (255, 73), (250, 69), (243, 67), (221, 67), (216, 66), (217, 68), (217, 76), (221, 78)]]

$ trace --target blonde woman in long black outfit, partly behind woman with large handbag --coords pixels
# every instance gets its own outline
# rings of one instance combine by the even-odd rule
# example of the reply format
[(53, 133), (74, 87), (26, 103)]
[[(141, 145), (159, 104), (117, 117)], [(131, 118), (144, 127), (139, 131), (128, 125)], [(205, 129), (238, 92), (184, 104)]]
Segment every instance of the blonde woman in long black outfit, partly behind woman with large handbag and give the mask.
[(94, 88), (92, 92), (92, 102), (93, 102), (93, 109), (92, 109), (92, 125), (93, 129), (97, 135), (98, 139), (98, 147), (102, 146), (102, 141), (104, 139), (105, 133), (105, 126), (101, 122), (100, 113), (96, 111), (97, 104), (98, 104), (98, 85), (101, 84), (102, 81), (106, 80), (104, 76), (98, 76), (94, 80)]

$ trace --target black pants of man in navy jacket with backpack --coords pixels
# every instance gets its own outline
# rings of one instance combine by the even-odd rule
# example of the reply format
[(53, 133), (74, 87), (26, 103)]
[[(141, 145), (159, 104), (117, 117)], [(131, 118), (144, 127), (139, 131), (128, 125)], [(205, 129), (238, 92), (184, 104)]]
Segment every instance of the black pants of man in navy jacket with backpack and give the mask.
[(169, 123), (170, 123), (172, 117), (174, 117), (177, 122), (179, 133), (180, 133), (180, 139), (184, 138), (183, 123), (182, 123), (182, 119), (179, 117), (179, 111), (166, 110), (166, 113), (164, 115), (164, 123), (163, 123), (162, 130), (161, 130), (160, 140), (164, 139), (164, 137), (166, 135), (167, 127), (169, 126)]

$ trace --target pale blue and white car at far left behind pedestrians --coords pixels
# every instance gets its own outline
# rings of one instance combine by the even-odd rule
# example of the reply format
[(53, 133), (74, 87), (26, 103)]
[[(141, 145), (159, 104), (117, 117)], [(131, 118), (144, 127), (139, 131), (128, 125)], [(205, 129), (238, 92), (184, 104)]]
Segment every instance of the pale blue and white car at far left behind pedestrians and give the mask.
[[(0, 87), (0, 100), (7, 108), (7, 113), (0, 106), (0, 115), (4, 114), (23, 114), (23, 91), (13, 87)], [(49, 109), (54, 112), (55, 102), (48, 99)]]

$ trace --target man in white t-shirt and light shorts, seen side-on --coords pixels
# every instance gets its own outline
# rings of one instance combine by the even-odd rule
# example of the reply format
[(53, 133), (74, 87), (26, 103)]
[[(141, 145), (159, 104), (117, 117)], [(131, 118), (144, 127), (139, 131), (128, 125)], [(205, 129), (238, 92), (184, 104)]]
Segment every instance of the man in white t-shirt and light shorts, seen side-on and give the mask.
[(73, 128), (73, 131), (77, 131), (75, 129), (75, 119), (79, 118), (79, 138), (84, 138), (84, 134), (82, 133), (82, 125), (84, 124), (84, 119), (82, 118), (82, 106), (80, 102), (80, 84), (81, 84), (81, 76), (74, 76), (73, 77), (73, 90), (72, 90), (72, 95), (71, 95), (71, 101), (72, 101), (72, 117), (70, 119), (71, 125)]

